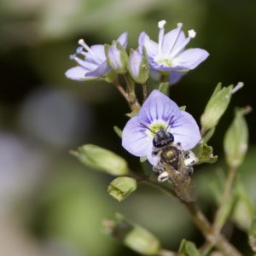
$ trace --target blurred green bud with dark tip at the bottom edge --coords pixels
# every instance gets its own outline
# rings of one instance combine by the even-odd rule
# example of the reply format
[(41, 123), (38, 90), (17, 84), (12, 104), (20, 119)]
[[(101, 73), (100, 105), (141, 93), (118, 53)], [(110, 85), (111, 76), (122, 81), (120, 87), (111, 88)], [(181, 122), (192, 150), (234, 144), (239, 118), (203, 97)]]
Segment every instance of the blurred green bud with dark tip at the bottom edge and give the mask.
[(120, 214), (116, 214), (116, 220), (105, 220), (103, 229), (137, 253), (157, 255), (160, 252), (160, 241), (157, 237)]

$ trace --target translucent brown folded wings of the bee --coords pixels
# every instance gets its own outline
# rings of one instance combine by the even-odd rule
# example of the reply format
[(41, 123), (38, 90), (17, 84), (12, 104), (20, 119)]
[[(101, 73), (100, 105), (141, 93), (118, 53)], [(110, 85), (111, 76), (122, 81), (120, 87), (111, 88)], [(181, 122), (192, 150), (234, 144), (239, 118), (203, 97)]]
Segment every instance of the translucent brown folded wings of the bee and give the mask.
[(196, 201), (195, 185), (186, 169), (182, 154), (179, 154), (179, 167), (177, 171), (174, 170), (172, 166), (166, 163), (163, 164), (166, 172), (172, 179), (175, 193), (183, 199), (183, 201)]

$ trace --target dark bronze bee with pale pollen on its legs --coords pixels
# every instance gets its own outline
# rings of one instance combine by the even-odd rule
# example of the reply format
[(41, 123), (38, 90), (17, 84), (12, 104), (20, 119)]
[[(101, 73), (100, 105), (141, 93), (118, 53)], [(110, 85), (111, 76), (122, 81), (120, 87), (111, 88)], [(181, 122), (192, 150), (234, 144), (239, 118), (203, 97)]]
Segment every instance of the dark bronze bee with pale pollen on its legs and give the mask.
[[(151, 131), (147, 125), (143, 126)], [(183, 201), (196, 201), (195, 185), (190, 177), (193, 173), (193, 165), (198, 161), (195, 154), (191, 150), (182, 150), (181, 143), (174, 144), (174, 136), (171, 132), (163, 128), (158, 132), (152, 132), (155, 134), (153, 145), (159, 149), (152, 152), (159, 157), (158, 164), (153, 167), (154, 172), (160, 173), (158, 181), (167, 180), (172, 183), (175, 193)]]

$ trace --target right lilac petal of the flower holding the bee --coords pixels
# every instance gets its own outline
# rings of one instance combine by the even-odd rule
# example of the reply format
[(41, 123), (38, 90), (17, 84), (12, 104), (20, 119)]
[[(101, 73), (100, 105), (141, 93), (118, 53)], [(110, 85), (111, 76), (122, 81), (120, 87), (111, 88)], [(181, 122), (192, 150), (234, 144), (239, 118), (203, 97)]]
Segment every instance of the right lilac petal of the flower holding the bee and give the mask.
[(183, 150), (194, 148), (201, 140), (199, 127), (191, 114), (181, 111), (179, 119), (171, 125), (174, 143), (181, 143)]

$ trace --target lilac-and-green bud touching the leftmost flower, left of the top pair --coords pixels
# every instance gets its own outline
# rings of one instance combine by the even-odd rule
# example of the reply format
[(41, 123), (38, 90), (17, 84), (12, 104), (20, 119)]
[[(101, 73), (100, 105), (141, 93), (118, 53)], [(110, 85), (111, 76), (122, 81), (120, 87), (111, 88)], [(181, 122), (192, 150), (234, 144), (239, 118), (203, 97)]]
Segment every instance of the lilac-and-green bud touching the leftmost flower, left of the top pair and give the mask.
[[(119, 42), (116, 43), (117, 45)], [(117, 49), (114, 46), (105, 44), (105, 53), (108, 61), (108, 66), (112, 68), (115, 73), (123, 74), (127, 73), (127, 61), (128, 55), (125, 51)], [(119, 45), (121, 47), (121, 45)]]

